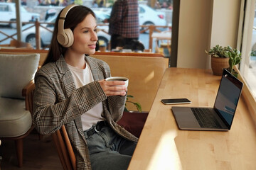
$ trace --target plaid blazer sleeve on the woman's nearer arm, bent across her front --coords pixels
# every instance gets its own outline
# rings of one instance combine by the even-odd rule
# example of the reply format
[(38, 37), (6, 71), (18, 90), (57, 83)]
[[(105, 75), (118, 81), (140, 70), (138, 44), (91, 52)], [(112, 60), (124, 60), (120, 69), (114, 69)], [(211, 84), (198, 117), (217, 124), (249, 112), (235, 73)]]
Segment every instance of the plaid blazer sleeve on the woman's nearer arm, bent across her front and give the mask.
[[(40, 71), (40, 70), (39, 70)], [(90, 108), (107, 99), (98, 81), (75, 89), (67, 98), (61, 98), (56, 82), (44, 72), (36, 74), (36, 89), (33, 98), (33, 124), (41, 134), (58, 130), (61, 125), (69, 123)], [(61, 86), (61, 84), (58, 84)]]

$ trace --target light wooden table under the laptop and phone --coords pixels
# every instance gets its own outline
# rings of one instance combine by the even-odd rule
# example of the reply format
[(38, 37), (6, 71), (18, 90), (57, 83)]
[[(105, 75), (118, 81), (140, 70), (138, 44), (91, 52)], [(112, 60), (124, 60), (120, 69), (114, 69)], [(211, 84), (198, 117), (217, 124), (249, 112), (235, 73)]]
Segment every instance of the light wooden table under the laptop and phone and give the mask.
[(188, 98), (186, 106), (213, 106), (219, 83), (210, 70), (166, 69), (129, 170), (256, 169), (255, 124), (243, 98), (228, 132), (178, 130), (171, 106), (160, 101)]

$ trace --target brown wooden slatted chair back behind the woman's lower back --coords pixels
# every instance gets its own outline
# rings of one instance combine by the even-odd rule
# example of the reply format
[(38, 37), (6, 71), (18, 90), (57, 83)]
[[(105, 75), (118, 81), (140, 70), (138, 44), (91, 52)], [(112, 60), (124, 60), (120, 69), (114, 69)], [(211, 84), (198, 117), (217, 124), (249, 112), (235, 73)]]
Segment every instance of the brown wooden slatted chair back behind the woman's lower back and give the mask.
[(68, 133), (63, 125), (60, 130), (53, 133), (53, 141), (60, 157), (60, 162), (65, 170), (76, 169), (76, 159)]

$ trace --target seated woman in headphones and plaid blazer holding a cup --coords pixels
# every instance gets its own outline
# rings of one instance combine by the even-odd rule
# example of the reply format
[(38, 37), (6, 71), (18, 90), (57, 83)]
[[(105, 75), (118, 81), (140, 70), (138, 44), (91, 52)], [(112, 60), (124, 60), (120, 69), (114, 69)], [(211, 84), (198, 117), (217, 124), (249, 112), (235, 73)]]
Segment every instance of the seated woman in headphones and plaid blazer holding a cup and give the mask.
[(33, 124), (41, 134), (62, 125), (78, 169), (127, 169), (137, 137), (117, 125), (127, 88), (105, 81), (110, 67), (90, 57), (97, 42), (95, 13), (67, 6), (55, 23), (46, 62), (35, 76)]

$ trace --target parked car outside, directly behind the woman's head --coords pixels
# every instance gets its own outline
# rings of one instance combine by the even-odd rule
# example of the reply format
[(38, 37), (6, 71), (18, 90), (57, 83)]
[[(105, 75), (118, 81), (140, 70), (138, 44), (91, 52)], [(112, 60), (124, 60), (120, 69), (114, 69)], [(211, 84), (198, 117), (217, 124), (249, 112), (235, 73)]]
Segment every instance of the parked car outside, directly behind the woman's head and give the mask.
[[(96, 17), (97, 16), (101, 16), (102, 12), (95, 12)], [(53, 36), (53, 29), (54, 29), (54, 24), (50, 24), (50, 23), (55, 23), (55, 20), (57, 18), (57, 15), (52, 16), (50, 18), (48, 18), (47, 21), (45, 21), (46, 23), (41, 24), (40, 29), (40, 37), (41, 37), (41, 47), (47, 47), (48, 45), (50, 45), (50, 41), (52, 39)], [(102, 19), (97, 17), (97, 24), (102, 23), (101, 22)], [(33, 47), (36, 47), (36, 28), (33, 26), (32, 28), (29, 28), (33, 26), (33, 24), (28, 24), (26, 26), (22, 27), (22, 38), (21, 40), (23, 42), (29, 42), (31, 43), (31, 45)], [(46, 30), (46, 27), (48, 30)], [(28, 28), (27, 30), (25, 30), (26, 28)], [(110, 41), (110, 35), (105, 33), (108, 32), (108, 26), (97, 26), (98, 32), (97, 32), (97, 37), (99, 41), (103, 41), (103, 43), (105, 43), (105, 45), (108, 45), (108, 42)], [(51, 31), (49, 31), (51, 30)], [(102, 31), (102, 30), (105, 30)], [(102, 44), (102, 43), (101, 43)]]

